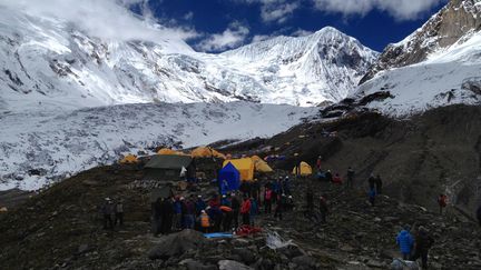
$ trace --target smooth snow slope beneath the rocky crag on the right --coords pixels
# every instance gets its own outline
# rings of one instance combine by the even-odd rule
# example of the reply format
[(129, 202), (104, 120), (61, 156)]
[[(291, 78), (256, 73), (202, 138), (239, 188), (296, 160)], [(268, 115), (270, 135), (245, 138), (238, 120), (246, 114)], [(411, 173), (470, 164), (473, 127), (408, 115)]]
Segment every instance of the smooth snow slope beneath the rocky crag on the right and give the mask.
[(360, 86), (355, 97), (390, 91), (393, 98), (369, 108), (393, 117), (409, 117), (431, 108), (481, 104), (481, 33), (429, 54), (416, 64), (385, 70)]

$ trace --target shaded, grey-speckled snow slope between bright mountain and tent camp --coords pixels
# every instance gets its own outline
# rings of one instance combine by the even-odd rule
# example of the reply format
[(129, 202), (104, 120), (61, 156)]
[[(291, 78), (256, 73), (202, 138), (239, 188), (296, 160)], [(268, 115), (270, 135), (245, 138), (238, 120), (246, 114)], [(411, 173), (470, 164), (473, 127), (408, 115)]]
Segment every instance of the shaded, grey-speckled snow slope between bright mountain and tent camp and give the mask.
[[(0, 116), (0, 190), (33, 190), (121, 154), (283, 132), (317, 108), (158, 103)], [(7, 128), (4, 128), (7, 127)], [(39, 174), (39, 176), (38, 176)]]

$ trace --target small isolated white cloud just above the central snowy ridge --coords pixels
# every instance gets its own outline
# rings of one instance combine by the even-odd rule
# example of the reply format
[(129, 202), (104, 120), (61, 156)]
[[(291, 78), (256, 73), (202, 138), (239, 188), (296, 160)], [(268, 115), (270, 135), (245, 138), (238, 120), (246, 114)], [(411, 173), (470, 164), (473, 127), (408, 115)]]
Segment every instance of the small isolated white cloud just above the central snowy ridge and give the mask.
[(235, 21), (224, 32), (207, 36), (196, 48), (200, 51), (223, 51), (236, 48), (244, 43), (248, 33), (249, 29), (247, 27)]

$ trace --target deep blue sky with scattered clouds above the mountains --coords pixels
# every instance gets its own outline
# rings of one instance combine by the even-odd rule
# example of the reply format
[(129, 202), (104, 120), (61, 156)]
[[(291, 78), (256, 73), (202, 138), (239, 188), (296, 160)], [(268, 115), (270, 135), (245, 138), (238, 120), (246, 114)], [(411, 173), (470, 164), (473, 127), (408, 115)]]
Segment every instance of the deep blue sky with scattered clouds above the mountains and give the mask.
[[(129, 0), (124, 0), (129, 1)], [(422, 26), (446, 0), (150, 0), (161, 24), (195, 32), (186, 41), (218, 52), (272, 36), (304, 36), (326, 26), (382, 51)], [(144, 11), (141, 8), (144, 7)]]

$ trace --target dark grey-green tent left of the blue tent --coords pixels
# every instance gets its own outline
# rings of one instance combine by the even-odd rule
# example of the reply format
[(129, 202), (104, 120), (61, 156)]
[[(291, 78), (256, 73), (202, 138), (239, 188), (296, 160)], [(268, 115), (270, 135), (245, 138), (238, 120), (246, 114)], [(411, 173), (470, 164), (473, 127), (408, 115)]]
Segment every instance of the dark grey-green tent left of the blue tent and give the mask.
[[(183, 168), (187, 169), (185, 176), (180, 176)], [(150, 159), (144, 170), (144, 179), (147, 180), (171, 181), (195, 177), (195, 164), (188, 156), (157, 154)]]

